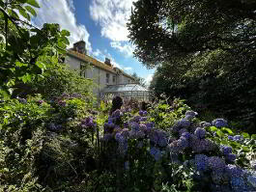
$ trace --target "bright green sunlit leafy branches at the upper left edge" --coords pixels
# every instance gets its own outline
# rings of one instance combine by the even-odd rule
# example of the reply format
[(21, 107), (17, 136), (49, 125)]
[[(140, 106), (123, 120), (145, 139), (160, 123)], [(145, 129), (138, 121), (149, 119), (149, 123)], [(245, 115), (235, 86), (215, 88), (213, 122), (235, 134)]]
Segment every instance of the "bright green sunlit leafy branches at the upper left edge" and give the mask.
[[(56, 64), (59, 53), (65, 53), (70, 32), (58, 24), (43, 24), (39, 29), (30, 23), (39, 8), (36, 0), (0, 0), (0, 86), (13, 94), (24, 84), (43, 78), (43, 71)], [(20, 19), (21, 14), (26, 20)]]

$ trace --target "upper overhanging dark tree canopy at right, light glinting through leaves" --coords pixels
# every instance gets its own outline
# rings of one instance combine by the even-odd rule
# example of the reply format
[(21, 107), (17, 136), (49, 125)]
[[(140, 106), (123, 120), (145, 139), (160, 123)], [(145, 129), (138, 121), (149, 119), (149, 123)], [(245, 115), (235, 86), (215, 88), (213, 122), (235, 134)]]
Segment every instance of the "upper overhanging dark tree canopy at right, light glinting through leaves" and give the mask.
[(128, 21), (135, 56), (153, 68), (173, 58), (222, 49), (255, 53), (253, 0), (138, 0)]

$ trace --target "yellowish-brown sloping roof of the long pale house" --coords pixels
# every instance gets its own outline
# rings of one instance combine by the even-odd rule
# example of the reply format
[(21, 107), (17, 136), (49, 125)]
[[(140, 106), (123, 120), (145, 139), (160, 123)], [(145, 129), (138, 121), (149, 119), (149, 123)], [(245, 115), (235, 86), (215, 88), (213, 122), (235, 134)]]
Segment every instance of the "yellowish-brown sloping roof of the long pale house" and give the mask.
[[(68, 50), (67, 54), (69, 56), (75, 57), (75, 58), (77, 58), (77, 59), (79, 59), (81, 61), (89, 62), (92, 65), (94, 65), (94, 66), (96, 66), (96, 67), (98, 67), (100, 69), (104, 69), (104, 70), (107, 70), (107, 71), (112, 72), (114, 74), (117, 74), (117, 71), (115, 69), (118, 69), (118, 68), (114, 68), (113, 66), (112, 67), (107, 66), (106, 64), (96, 60), (95, 58), (93, 58), (91, 56), (84, 55), (84, 54), (78, 53), (77, 51), (73, 51), (73, 50)], [(119, 70), (121, 71), (121, 73), (123, 75), (127, 76), (128, 78), (131, 78), (131, 79), (135, 80), (133, 76), (129, 75), (124, 70), (122, 70), (122, 69), (119, 69)]]

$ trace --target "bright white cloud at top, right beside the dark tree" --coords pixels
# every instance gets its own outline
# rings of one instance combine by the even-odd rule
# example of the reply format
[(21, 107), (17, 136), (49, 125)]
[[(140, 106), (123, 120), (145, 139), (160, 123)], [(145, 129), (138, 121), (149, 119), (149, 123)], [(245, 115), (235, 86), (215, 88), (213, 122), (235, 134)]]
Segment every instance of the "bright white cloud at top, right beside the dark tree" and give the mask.
[(135, 0), (92, 0), (90, 15), (101, 27), (101, 36), (128, 41), (127, 21)]

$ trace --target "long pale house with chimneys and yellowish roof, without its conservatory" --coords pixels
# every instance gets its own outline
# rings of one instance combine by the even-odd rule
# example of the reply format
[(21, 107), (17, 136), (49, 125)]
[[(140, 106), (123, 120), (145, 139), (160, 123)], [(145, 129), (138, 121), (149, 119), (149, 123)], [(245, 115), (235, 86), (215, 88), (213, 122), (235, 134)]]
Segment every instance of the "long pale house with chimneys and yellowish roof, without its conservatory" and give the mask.
[(105, 58), (103, 63), (87, 55), (85, 45), (85, 41), (75, 42), (67, 51), (65, 63), (69, 64), (70, 69), (80, 71), (81, 76), (93, 79), (99, 85), (93, 91), (95, 94), (99, 95), (107, 86), (135, 83), (131, 75), (114, 67), (110, 59)]

